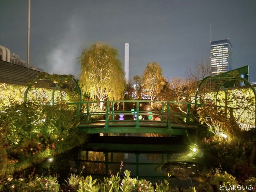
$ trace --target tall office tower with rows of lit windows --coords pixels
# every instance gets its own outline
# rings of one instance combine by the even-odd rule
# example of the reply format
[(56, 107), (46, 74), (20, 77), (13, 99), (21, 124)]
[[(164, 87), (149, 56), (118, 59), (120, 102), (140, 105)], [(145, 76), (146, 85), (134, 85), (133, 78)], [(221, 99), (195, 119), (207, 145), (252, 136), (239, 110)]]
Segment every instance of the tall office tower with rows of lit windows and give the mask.
[(211, 73), (212, 76), (232, 70), (233, 47), (229, 39), (211, 42)]

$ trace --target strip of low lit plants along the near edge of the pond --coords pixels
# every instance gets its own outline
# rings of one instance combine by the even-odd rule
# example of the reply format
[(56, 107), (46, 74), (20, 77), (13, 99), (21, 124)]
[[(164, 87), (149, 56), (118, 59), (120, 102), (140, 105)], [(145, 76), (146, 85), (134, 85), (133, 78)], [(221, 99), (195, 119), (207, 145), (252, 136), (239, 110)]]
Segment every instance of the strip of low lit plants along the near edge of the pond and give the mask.
[(65, 184), (58, 184), (56, 177), (32, 175), (29, 178), (12, 178), (0, 182), (0, 190), (11, 192), (218, 192), (218, 191), (255, 191), (256, 178), (250, 177), (244, 183), (238, 183), (236, 178), (227, 172), (209, 172), (201, 176), (202, 180), (192, 187), (172, 186), (169, 178), (163, 182), (152, 183), (130, 177), (130, 171), (124, 172), (124, 177), (110, 175), (102, 181), (92, 176), (71, 174)]

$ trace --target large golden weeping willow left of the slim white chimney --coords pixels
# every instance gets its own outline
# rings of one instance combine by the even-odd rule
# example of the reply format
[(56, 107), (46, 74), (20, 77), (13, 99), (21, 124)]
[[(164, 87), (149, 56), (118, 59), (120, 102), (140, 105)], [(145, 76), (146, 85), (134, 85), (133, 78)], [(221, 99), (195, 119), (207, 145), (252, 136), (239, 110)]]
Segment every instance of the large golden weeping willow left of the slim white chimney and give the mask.
[[(118, 51), (106, 44), (93, 44), (79, 58), (79, 84), (83, 94), (94, 100), (120, 100), (124, 97), (125, 80)], [(100, 103), (103, 109), (103, 102)]]

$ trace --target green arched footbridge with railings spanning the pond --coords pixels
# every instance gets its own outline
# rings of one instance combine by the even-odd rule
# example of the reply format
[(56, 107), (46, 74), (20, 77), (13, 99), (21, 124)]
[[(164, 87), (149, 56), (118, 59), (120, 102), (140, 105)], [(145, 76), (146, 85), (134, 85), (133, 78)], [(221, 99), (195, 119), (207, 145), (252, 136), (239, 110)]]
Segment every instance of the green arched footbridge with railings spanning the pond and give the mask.
[(78, 128), (82, 132), (137, 133), (184, 135), (186, 130), (198, 127), (195, 108), (198, 104), (170, 101), (130, 100), (100, 102), (77, 102), (76, 115), (81, 115)]

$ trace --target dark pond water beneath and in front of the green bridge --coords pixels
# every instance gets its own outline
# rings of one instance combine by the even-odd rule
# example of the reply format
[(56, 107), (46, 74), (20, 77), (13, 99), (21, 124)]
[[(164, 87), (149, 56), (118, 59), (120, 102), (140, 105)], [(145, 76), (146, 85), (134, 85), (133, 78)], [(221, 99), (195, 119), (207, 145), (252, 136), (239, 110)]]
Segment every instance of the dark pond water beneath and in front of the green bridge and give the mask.
[[(190, 186), (198, 166), (191, 162), (182, 137), (91, 135), (89, 141), (69, 156), (71, 170), (103, 179), (111, 174)], [(60, 164), (59, 164), (60, 165)]]

